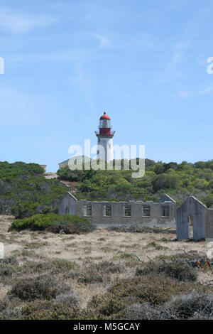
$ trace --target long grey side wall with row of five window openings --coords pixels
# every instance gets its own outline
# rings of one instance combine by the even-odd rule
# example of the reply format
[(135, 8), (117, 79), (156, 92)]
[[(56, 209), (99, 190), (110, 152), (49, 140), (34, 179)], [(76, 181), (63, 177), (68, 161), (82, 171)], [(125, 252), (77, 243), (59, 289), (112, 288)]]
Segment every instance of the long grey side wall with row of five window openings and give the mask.
[[(129, 201), (129, 202), (94, 202), (79, 200), (76, 203), (76, 214), (84, 215), (84, 205), (92, 205), (92, 216), (87, 217), (94, 225), (131, 225), (143, 224), (146, 226), (175, 225), (176, 204), (165, 202), (169, 207), (169, 217), (161, 217), (162, 203)], [(111, 205), (111, 217), (104, 217), (104, 205)], [(131, 205), (131, 217), (123, 217), (123, 205)], [(142, 217), (142, 206), (150, 205), (151, 216)]]

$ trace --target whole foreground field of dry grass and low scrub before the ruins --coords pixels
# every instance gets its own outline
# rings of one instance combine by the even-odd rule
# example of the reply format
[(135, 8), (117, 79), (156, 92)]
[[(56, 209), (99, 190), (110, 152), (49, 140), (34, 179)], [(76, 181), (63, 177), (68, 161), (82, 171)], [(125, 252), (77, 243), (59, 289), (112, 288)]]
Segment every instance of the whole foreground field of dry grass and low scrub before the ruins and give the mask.
[(34, 222), (7, 232), (10, 223), (0, 224), (10, 249), (0, 259), (0, 319), (212, 318), (212, 266), (195, 266), (204, 242), (103, 229), (50, 234)]

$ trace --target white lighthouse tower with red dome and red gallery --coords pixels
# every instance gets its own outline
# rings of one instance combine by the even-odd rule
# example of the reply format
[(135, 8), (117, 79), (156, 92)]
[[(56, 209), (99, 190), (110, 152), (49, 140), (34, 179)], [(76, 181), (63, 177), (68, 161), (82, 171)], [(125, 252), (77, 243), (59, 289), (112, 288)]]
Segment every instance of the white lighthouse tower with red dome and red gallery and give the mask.
[(111, 119), (106, 112), (99, 119), (99, 131), (94, 131), (97, 135), (97, 159), (110, 163), (114, 159), (113, 136), (115, 131), (111, 131)]

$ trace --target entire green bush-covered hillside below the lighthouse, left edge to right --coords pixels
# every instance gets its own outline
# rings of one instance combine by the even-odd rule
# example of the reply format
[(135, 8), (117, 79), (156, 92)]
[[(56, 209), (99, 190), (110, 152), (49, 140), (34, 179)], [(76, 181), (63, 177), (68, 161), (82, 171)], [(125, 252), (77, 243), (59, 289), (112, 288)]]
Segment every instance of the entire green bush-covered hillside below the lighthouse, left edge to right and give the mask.
[[(163, 163), (146, 159), (143, 178), (132, 178), (132, 171), (58, 171), (59, 179), (77, 181), (77, 198), (90, 200), (153, 200), (168, 193), (178, 205), (195, 195), (207, 207), (213, 205), (213, 161)], [(0, 162), (0, 213), (16, 218), (38, 213), (58, 212), (67, 187), (58, 180), (47, 180), (35, 163)]]

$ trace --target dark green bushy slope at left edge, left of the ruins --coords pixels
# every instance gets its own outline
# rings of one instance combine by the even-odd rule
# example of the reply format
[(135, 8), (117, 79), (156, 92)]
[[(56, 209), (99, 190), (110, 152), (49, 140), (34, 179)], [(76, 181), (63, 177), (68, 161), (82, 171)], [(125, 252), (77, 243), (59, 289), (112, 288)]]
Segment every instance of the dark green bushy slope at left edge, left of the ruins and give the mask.
[(0, 213), (23, 218), (57, 212), (67, 187), (57, 180), (46, 180), (43, 172), (36, 163), (0, 162)]

